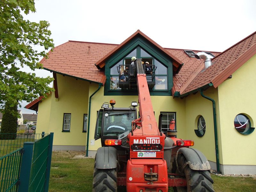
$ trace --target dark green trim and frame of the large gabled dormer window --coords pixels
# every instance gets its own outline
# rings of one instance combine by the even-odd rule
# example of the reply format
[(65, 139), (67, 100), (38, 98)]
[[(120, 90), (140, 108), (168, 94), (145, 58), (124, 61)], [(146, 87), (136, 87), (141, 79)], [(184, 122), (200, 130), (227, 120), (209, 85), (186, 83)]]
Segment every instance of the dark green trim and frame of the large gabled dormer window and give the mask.
[[(152, 55), (152, 57), (162, 63), (165, 67), (167, 67), (167, 75), (158, 75), (158, 76), (167, 76), (167, 90), (152, 90), (150, 91), (150, 95), (172, 95), (171, 89), (173, 86), (172, 77), (172, 59), (166, 55), (164, 52), (159, 50), (155, 45), (148, 42), (148, 40), (142, 37), (136, 37), (124, 45), (120, 50), (118, 50), (115, 54), (113, 54), (108, 60), (106, 60), (105, 65), (105, 75), (107, 77), (106, 84), (104, 86), (104, 95), (138, 95), (137, 91), (131, 90), (110, 90), (110, 68), (116, 65), (117, 62), (124, 59), (124, 57), (137, 48), (137, 58), (140, 58), (140, 49), (144, 49), (144, 51), (148, 52), (148, 54)], [(147, 58), (147, 57), (143, 57)], [(149, 57), (151, 58), (151, 57)], [(154, 61), (154, 60), (153, 60)], [(113, 76), (113, 75), (111, 75)]]

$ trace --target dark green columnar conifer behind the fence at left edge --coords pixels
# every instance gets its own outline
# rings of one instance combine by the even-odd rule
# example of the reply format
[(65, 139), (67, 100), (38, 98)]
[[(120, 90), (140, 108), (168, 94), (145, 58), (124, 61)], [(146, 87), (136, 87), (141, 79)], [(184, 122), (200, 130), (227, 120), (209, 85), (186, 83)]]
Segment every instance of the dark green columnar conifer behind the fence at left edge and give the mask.
[[(3, 119), (2, 119), (2, 126), (0, 133), (1, 140), (7, 139), (16, 139), (17, 127), (18, 127), (18, 109), (17, 105), (12, 107), (10, 106), (9, 102), (6, 102), (6, 107), (4, 108), (3, 112)], [(11, 134), (7, 134), (11, 133)]]

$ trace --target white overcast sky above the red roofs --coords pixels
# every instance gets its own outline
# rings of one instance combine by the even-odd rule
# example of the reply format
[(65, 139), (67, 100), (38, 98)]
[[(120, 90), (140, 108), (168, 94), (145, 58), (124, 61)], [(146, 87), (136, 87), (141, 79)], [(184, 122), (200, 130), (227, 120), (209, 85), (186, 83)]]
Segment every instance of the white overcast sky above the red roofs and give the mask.
[[(120, 44), (140, 29), (165, 48), (222, 52), (256, 31), (255, 0), (35, 2), (36, 13), (24, 18), (49, 21), (55, 46), (68, 40)], [(34, 113), (26, 104), (22, 112)]]

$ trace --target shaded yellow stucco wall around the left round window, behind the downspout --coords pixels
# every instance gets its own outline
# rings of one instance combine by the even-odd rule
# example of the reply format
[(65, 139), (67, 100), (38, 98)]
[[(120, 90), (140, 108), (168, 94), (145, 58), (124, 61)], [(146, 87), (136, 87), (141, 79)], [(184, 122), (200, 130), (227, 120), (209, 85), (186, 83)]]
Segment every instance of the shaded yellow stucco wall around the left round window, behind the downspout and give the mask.
[[(218, 90), (214, 87), (210, 87), (205, 90), (204, 95), (215, 100), (216, 104), (216, 118), (217, 118), (217, 132), (219, 138), (219, 156), (221, 161), (221, 142), (220, 142), (220, 126), (219, 126), (219, 113), (218, 113)], [(186, 139), (194, 140), (195, 145), (193, 148), (199, 149), (208, 160), (216, 162), (215, 156), (215, 140), (214, 140), (214, 126), (213, 126), (213, 110), (212, 101), (203, 98), (200, 92), (195, 95), (191, 94), (186, 100)], [(199, 116), (203, 116), (205, 120), (205, 133), (203, 137), (197, 137), (195, 129), (197, 129), (197, 121)]]

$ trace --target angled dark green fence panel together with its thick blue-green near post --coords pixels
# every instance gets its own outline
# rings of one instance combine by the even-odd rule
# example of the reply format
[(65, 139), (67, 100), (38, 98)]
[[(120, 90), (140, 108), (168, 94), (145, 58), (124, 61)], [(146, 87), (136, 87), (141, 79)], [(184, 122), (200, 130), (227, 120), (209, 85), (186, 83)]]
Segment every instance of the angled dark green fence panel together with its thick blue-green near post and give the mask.
[(53, 133), (35, 142), (24, 143), (18, 192), (48, 192), (52, 142)]

